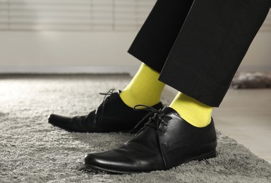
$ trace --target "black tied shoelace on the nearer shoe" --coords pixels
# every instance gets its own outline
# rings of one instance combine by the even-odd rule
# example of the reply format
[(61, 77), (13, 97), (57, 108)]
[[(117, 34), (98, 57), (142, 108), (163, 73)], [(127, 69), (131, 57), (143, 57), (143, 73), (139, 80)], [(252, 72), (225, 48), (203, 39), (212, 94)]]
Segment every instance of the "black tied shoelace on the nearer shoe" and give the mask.
[[(138, 108), (138, 107), (144, 107), (144, 108)], [(145, 122), (144, 127), (142, 127), (140, 130), (138, 130), (138, 132), (135, 135), (142, 132), (145, 129), (145, 127), (153, 127), (157, 130), (160, 130), (161, 132), (164, 132), (164, 130), (161, 130), (159, 128), (159, 125), (162, 123), (164, 126), (167, 126), (167, 123), (165, 123), (164, 121), (171, 120), (171, 117), (167, 116), (165, 113), (162, 113), (162, 109), (156, 109), (156, 108), (152, 108), (150, 106), (145, 106), (145, 105), (141, 105), (141, 104), (136, 105), (133, 109), (135, 111), (149, 112), (147, 115), (145, 115), (145, 117), (142, 120), (140, 120), (140, 122), (138, 122), (137, 125), (135, 125), (133, 130), (130, 131), (131, 133), (135, 132), (135, 130), (137, 130), (138, 127), (140, 125), (142, 125), (143, 122)], [(148, 120), (147, 120), (147, 118), (148, 118)]]

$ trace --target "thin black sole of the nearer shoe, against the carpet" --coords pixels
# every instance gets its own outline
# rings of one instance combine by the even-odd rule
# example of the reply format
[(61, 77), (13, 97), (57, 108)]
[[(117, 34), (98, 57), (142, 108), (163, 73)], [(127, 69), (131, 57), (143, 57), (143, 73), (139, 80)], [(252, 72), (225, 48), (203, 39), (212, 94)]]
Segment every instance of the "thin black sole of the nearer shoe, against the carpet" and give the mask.
[[(217, 157), (217, 151), (210, 151), (209, 153), (205, 153), (205, 154), (202, 154), (200, 156), (195, 156), (195, 157), (193, 157), (193, 158), (191, 158), (189, 160), (186, 160), (184, 163), (188, 163), (188, 162), (190, 162), (192, 160), (200, 161), (200, 160), (206, 160), (206, 159), (215, 158), (215, 157)], [(182, 165), (184, 163), (181, 163), (180, 165)], [(157, 170), (151, 170), (151, 171), (142, 171), (142, 172), (128, 172), (128, 171), (119, 171), (119, 170), (110, 170), (110, 169), (106, 169), (106, 168), (101, 168), (101, 167), (98, 167), (98, 166), (95, 166), (95, 165), (90, 165), (88, 163), (84, 163), (84, 165), (85, 165), (85, 168), (95, 170), (96, 172), (107, 172), (107, 173), (110, 173), (110, 174), (117, 174), (117, 175), (120, 175), (120, 174), (135, 174), (135, 173), (142, 173), (142, 172), (157, 171)], [(179, 165), (177, 165), (177, 166), (179, 166)], [(170, 169), (171, 168), (163, 169), (163, 170), (170, 170)]]

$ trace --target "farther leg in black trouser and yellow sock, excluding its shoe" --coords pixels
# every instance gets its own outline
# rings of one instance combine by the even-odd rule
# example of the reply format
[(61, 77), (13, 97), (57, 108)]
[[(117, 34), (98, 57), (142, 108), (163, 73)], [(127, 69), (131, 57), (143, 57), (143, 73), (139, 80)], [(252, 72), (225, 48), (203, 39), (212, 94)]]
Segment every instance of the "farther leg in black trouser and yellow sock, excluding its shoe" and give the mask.
[(157, 1), (128, 50), (142, 61), (133, 80), (121, 92), (128, 106), (152, 106), (159, 102), (164, 84), (159, 72), (191, 8), (192, 0)]

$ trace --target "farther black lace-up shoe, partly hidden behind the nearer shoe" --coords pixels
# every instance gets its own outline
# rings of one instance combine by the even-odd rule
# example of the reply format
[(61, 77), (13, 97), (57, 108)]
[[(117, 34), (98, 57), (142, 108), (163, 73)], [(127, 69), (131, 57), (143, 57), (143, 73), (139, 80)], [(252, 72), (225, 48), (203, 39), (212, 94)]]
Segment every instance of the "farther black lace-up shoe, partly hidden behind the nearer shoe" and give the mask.
[[(126, 106), (119, 94), (120, 91), (110, 89), (104, 94), (102, 104), (88, 115), (68, 118), (52, 114), (49, 115), (48, 122), (69, 132), (129, 132), (148, 111), (135, 111)], [(159, 102), (152, 107), (159, 109), (163, 105)]]

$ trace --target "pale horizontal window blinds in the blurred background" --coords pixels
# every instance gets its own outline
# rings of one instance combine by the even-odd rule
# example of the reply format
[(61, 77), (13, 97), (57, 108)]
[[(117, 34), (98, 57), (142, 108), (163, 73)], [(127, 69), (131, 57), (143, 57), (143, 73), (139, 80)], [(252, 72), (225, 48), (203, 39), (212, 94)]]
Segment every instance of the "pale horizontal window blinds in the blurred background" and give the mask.
[(0, 0), (0, 30), (138, 30), (156, 0)]

